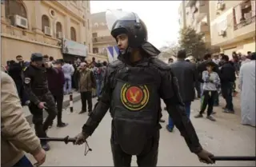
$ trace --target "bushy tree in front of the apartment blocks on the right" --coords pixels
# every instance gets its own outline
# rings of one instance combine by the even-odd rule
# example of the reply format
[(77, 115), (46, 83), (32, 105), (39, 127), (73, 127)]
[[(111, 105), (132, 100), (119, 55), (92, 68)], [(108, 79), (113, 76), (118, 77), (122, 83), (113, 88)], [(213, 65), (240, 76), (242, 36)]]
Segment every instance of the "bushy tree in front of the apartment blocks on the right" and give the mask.
[(202, 58), (209, 50), (206, 49), (206, 43), (203, 41), (204, 34), (198, 34), (191, 27), (184, 27), (179, 32), (179, 45), (186, 50), (186, 55), (194, 58)]

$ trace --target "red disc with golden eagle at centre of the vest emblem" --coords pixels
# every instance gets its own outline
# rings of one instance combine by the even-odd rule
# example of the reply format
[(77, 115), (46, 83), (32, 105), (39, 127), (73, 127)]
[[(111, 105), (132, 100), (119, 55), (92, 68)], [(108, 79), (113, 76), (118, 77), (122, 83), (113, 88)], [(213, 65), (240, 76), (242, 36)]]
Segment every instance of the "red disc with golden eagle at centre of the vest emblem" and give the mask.
[(126, 99), (132, 104), (138, 104), (142, 101), (143, 93), (142, 89), (139, 89), (137, 86), (132, 86), (126, 91)]

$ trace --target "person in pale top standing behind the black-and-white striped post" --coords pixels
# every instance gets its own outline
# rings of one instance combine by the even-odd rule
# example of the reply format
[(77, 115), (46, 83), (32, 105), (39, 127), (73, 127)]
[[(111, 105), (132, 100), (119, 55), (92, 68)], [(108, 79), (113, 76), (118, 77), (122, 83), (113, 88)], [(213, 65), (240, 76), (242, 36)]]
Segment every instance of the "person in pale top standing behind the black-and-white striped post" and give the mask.
[[(74, 74), (74, 67), (69, 64), (69, 62), (64, 61), (64, 65), (62, 66), (62, 71), (65, 77), (65, 84), (63, 88), (64, 94), (72, 93), (72, 75)], [(67, 89), (66, 89), (67, 88)]]

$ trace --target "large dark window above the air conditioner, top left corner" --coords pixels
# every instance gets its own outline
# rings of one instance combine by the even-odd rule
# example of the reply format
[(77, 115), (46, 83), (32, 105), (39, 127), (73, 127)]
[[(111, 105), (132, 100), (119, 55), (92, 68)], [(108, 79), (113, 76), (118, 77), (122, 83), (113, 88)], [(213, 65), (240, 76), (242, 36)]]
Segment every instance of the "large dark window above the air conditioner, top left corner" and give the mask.
[(10, 19), (11, 25), (14, 26), (14, 15), (22, 16), (23, 18), (27, 18), (26, 16), (26, 8), (22, 1), (11, 1), (5, 0), (5, 10), (6, 10), (6, 18)]

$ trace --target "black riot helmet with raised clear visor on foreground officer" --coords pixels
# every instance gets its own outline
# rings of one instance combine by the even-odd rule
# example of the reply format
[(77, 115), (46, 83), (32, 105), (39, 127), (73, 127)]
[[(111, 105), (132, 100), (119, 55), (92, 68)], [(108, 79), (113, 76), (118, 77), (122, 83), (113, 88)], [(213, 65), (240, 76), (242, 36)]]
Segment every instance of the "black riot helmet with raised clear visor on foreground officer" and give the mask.
[(122, 10), (108, 10), (106, 23), (111, 35), (116, 38), (119, 34), (127, 34), (130, 48), (138, 48), (147, 42), (146, 25), (138, 15)]

